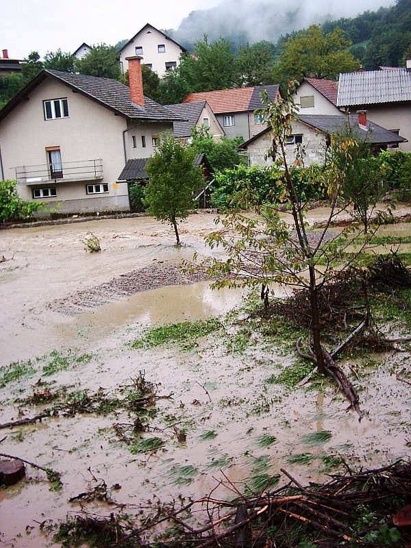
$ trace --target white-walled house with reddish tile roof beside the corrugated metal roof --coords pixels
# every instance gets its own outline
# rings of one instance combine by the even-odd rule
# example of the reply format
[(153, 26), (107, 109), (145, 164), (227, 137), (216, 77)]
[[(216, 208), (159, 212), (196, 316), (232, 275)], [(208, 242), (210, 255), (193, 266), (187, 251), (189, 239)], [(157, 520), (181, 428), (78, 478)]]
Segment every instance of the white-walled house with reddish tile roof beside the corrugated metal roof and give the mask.
[(340, 114), (337, 107), (338, 82), (319, 78), (304, 78), (294, 100), (301, 114)]

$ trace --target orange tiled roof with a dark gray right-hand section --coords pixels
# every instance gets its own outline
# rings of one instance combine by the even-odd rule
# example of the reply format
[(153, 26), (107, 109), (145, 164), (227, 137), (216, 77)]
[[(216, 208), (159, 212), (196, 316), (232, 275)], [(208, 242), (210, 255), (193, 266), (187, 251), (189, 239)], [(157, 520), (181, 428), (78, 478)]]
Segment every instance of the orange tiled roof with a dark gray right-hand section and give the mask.
[(269, 99), (275, 101), (279, 86), (255, 86), (253, 88), (235, 88), (229, 90), (201, 91), (188, 93), (183, 103), (207, 101), (214, 114), (225, 112), (248, 112), (262, 108), (261, 92), (265, 90)]

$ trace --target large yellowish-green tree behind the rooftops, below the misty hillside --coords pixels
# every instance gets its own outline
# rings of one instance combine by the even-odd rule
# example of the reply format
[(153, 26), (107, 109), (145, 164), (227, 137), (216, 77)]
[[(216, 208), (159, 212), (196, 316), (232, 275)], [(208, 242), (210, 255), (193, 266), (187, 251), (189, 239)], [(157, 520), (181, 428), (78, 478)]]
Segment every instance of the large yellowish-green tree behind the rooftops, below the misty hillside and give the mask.
[(324, 34), (319, 25), (288, 38), (279, 55), (277, 77), (282, 86), (304, 77), (336, 79), (340, 72), (357, 71), (360, 63), (348, 50), (351, 42), (341, 29)]

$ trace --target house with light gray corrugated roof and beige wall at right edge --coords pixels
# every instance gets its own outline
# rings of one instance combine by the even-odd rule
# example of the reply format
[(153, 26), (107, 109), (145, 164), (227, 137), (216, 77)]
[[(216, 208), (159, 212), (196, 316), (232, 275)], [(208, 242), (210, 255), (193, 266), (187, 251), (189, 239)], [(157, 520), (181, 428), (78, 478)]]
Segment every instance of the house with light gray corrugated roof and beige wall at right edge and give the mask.
[(411, 62), (407, 69), (341, 73), (337, 106), (367, 117), (406, 138), (399, 149), (411, 151)]

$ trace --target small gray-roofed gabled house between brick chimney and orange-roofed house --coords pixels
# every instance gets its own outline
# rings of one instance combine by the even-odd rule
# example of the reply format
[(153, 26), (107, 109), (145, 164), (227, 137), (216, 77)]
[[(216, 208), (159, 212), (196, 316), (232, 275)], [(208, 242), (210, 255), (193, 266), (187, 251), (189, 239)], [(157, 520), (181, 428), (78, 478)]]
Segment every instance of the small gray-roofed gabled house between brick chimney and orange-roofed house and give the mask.
[(190, 140), (195, 127), (207, 129), (208, 133), (216, 140), (225, 136), (223, 127), (216, 119), (207, 101), (166, 105), (166, 108), (175, 112), (180, 118), (174, 122), (174, 136), (179, 139)]

